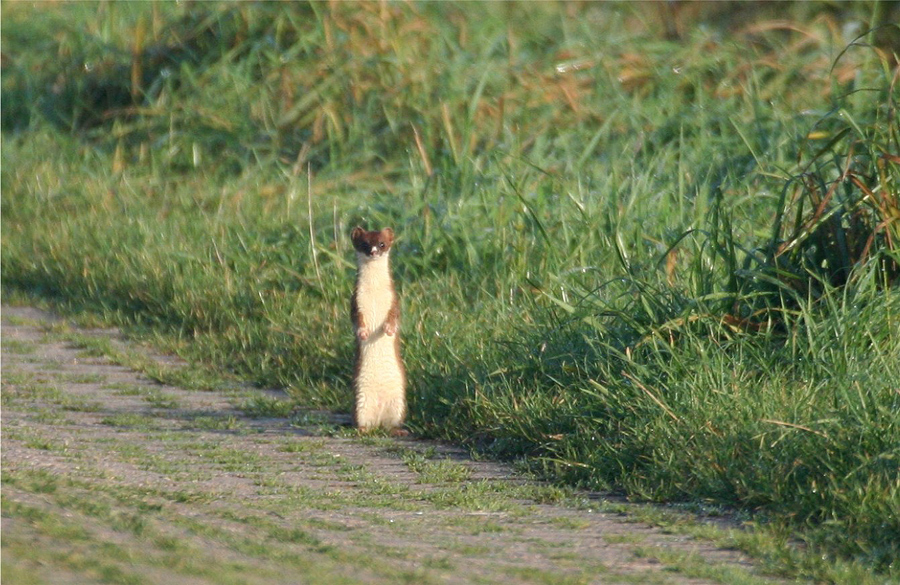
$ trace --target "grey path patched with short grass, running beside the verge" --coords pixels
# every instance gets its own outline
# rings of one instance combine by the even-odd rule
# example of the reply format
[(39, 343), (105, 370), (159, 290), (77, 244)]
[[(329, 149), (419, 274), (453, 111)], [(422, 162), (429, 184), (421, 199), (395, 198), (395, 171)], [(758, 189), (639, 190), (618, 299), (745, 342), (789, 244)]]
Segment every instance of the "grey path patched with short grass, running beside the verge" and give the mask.
[(159, 384), (116, 363), (135, 351), (184, 367), (3, 307), (4, 583), (766, 582), (446, 446)]

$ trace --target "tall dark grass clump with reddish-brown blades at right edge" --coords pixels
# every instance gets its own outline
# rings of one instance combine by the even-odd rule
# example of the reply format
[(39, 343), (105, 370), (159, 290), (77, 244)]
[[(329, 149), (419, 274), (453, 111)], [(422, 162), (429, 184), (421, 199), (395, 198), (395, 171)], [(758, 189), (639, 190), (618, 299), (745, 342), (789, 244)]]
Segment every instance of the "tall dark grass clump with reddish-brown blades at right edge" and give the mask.
[[(829, 288), (852, 288), (854, 277), (874, 277), (890, 288), (900, 275), (900, 70), (884, 67), (880, 86), (870, 90), (879, 94), (874, 110), (854, 114), (855, 96), (846, 96), (807, 134), (782, 189), (771, 238), (733, 271), (740, 284), (735, 292), (759, 293), (735, 299), (743, 305), (737, 323), (771, 326), (780, 317), (763, 304), (794, 308)], [(729, 244), (733, 257), (737, 246)], [(870, 261), (877, 270), (857, 269)]]

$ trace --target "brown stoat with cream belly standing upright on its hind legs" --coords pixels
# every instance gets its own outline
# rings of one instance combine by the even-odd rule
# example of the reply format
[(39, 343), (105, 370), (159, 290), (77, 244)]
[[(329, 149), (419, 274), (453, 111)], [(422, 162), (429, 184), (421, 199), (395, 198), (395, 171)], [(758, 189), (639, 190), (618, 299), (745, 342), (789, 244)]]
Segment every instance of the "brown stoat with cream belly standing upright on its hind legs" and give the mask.
[(363, 431), (398, 429), (406, 416), (406, 372), (400, 359), (400, 302), (388, 256), (394, 231), (350, 233), (356, 249), (356, 286), (350, 318), (356, 332), (353, 422)]

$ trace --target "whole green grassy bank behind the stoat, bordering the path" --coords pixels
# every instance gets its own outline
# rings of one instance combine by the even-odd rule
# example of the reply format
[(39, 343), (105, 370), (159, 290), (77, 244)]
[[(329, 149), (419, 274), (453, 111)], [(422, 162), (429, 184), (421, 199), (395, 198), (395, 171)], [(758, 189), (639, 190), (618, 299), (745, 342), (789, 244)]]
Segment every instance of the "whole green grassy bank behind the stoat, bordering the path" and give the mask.
[(897, 578), (896, 9), (658, 10), (4, 3), (4, 292), (346, 410), (391, 225), (417, 432)]

